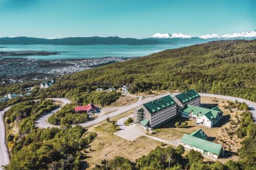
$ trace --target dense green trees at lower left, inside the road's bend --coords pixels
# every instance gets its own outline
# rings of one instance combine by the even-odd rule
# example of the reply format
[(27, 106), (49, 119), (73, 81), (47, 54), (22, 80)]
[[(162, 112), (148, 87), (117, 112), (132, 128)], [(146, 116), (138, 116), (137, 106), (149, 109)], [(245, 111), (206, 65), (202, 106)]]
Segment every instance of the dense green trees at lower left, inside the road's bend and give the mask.
[(96, 133), (87, 132), (81, 126), (59, 129), (35, 127), (36, 118), (55, 107), (53, 101), (41, 99), (18, 103), (7, 111), (5, 121), (11, 158), (4, 169), (64, 170), (87, 166), (84, 161), (86, 155), (81, 151), (96, 137)]

